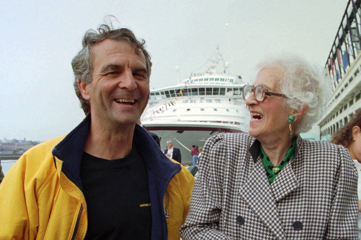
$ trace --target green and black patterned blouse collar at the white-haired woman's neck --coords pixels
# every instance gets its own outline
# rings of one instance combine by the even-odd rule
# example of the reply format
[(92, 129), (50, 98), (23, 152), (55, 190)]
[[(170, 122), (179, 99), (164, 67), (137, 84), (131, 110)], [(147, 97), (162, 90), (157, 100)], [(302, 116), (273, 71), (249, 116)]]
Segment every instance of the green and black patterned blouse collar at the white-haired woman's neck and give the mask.
[(295, 155), (295, 144), (296, 144), (296, 137), (292, 141), (291, 148), (288, 149), (286, 156), (283, 158), (282, 162), (278, 166), (274, 166), (270, 159), (268, 158), (267, 154), (263, 150), (262, 146), (260, 145), (260, 157), (262, 159), (262, 163), (265, 166), (266, 175), (268, 181), (271, 183), (278, 175), (278, 173), (286, 166), (288, 162), (294, 157)]

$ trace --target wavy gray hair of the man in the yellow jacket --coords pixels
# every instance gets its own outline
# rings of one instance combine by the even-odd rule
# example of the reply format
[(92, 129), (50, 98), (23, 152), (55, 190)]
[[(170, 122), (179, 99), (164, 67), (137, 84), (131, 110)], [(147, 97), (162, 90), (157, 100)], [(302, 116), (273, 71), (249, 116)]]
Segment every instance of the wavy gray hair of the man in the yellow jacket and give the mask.
[(101, 24), (96, 30), (88, 30), (83, 37), (83, 49), (73, 58), (71, 66), (74, 72), (74, 89), (75, 94), (80, 100), (81, 108), (85, 114), (90, 112), (90, 104), (88, 100), (85, 100), (79, 90), (78, 80), (91, 83), (92, 81), (92, 67), (93, 67), (93, 51), (92, 46), (105, 39), (111, 39), (116, 41), (126, 41), (132, 47), (137, 54), (143, 53), (145, 57), (145, 65), (147, 67), (147, 77), (151, 76), (151, 56), (147, 50), (145, 50), (144, 39), (137, 40), (134, 33), (128, 28), (112, 29), (106, 24)]

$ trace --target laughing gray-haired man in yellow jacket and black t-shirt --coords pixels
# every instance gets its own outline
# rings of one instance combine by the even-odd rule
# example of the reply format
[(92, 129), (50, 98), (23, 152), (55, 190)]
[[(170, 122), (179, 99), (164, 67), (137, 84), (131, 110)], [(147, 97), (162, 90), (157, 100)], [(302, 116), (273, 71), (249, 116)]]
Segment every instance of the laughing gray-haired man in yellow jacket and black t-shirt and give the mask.
[(150, 56), (126, 29), (88, 31), (72, 61), (86, 118), (31, 148), (0, 185), (0, 239), (179, 239), (194, 178), (136, 124)]

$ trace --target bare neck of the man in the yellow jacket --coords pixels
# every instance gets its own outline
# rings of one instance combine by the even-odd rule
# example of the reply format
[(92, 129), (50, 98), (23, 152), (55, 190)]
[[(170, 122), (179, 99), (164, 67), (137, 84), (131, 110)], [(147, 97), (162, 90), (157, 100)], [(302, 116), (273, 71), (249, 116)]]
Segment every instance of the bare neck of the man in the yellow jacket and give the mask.
[(91, 121), (84, 151), (108, 160), (124, 158), (132, 150), (135, 124), (126, 126), (103, 126)]

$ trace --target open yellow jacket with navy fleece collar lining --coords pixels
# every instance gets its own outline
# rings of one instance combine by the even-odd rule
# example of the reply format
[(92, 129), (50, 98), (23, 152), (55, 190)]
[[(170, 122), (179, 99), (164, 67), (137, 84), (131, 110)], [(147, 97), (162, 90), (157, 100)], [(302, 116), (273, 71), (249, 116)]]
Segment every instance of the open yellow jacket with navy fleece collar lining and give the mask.
[[(84, 238), (87, 204), (79, 167), (89, 124), (88, 116), (68, 135), (29, 149), (8, 171), (0, 184), (0, 239)], [(139, 125), (133, 142), (147, 166), (151, 239), (179, 240), (195, 179)]]

